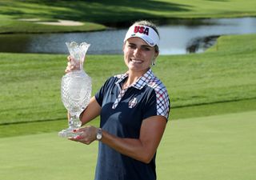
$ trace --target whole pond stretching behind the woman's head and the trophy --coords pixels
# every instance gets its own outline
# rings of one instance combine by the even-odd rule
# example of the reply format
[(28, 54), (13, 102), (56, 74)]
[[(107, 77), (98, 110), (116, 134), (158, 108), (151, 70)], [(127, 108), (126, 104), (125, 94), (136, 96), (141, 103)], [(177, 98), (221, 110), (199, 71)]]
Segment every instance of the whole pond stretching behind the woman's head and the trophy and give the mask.
[[(0, 52), (68, 54), (65, 42), (88, 42), (88, 54), (122, 54), (127, 28), (87, 33), (0, 34)], [(220, 35), (254, 34), (256, 18), (202, 19), (200, 23), (158, 26), (160, 54), (200, 53)]]

